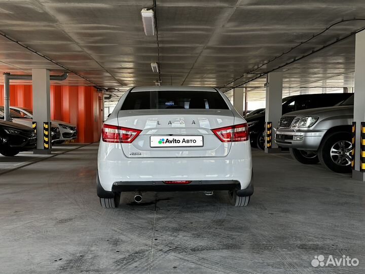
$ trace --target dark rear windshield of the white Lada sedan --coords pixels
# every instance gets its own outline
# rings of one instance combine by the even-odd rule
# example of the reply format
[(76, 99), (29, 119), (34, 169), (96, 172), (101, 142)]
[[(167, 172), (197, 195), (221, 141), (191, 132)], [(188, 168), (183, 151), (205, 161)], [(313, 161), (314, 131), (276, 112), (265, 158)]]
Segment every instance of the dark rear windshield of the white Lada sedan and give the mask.
[(228, 106), (217, 91), (136, 91), (129, 92), (121, 110), (218, 109)]

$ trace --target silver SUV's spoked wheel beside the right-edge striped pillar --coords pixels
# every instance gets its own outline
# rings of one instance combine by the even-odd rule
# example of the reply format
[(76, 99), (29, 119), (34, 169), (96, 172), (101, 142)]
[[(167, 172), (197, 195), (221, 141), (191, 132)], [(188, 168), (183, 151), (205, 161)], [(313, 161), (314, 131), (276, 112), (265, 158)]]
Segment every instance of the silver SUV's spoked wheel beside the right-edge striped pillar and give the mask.
[(352, 170), (351, 150), (351, 133), (334, 132), (322, 140), (318, 150), (318, 158), (321, 164), (333, 172), (350, 173)]

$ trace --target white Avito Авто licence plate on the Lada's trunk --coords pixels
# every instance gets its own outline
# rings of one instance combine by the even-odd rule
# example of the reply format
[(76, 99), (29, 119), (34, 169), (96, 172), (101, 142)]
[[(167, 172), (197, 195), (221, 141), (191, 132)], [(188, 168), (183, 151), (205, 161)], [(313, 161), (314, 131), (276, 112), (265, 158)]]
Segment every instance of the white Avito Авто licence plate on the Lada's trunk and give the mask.
[(151, 148), (203, 147), (202, 135), (155, 135), (150, 137)]

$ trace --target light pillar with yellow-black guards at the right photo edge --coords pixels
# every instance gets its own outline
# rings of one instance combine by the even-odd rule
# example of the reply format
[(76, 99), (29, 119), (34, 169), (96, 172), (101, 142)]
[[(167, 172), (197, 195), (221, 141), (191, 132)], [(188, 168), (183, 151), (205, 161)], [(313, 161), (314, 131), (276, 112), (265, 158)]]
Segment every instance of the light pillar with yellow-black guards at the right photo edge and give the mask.
[(354, 122), (356, 122), (355, 170), (352, 178), (365, 182), (365, 173), (360, 172), (360, 125), (365, 122), (365, 31), (356, 34), (355, 42), (355, 94)]

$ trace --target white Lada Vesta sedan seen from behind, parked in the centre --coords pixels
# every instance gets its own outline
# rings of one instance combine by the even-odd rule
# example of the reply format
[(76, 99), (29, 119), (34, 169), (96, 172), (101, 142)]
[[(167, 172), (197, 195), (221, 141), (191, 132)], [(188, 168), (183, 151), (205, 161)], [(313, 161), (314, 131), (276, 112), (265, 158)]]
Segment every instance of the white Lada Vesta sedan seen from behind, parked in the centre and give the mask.
[(102, 127), (97, 195), (118, 207), (120, 193), (228, 190), (233, 205), (253, 193), (246, 121), (215, 88), (128, 90)]

